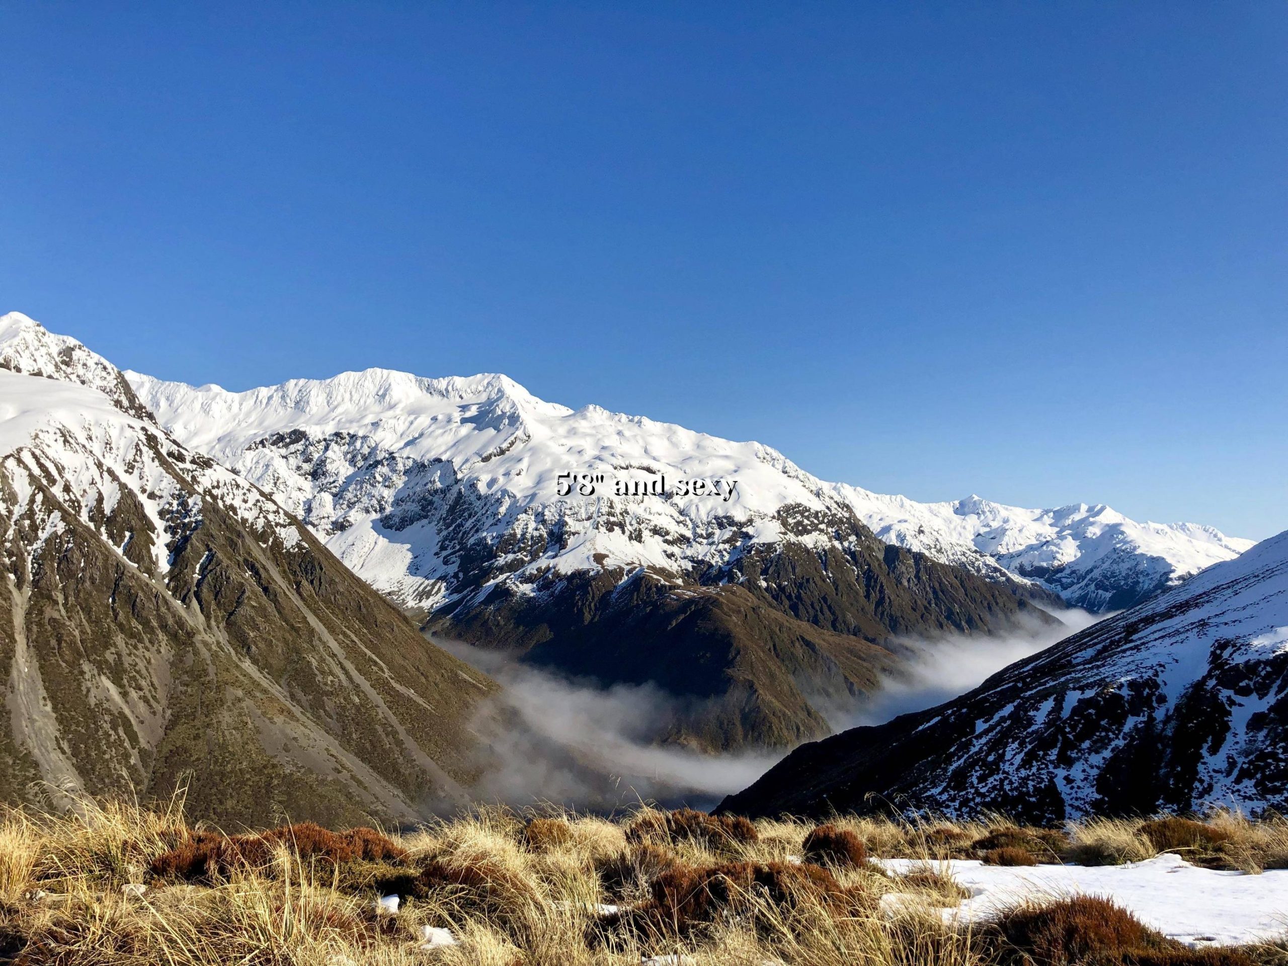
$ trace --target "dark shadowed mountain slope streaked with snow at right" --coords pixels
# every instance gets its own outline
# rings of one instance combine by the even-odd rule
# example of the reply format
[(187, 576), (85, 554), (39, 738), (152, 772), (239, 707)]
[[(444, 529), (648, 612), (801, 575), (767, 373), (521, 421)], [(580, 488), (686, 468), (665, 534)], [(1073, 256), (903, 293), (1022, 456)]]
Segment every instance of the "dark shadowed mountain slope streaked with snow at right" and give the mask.
[(1054, 822), (1288, 808), (1288, 532), (978, 689), (788, 755), (721, 808)]

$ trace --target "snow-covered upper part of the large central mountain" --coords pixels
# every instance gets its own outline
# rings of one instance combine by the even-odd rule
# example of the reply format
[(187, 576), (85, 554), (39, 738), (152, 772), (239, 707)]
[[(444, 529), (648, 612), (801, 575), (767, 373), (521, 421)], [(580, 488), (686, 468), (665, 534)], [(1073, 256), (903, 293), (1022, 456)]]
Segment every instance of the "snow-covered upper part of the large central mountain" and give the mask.
[[(440, 603), (466, 544), (473, 554), (495, 547), (506, 573), (687, 573), (724, 562), (739, 527), (777, 538), (784, 506), (846, 513), (826, 484), (759, 443), (571, 410), (506, 376), (366, 370), (242, 393), (128, 377), (176, 437), (273, 492), (404, 603)], [(564, 474), (600, 479), (594, 495), (568, 493)], [(670, 498), (616, 491), (663, 478)], [(681, 479), (721, 489), (675, 495)]]

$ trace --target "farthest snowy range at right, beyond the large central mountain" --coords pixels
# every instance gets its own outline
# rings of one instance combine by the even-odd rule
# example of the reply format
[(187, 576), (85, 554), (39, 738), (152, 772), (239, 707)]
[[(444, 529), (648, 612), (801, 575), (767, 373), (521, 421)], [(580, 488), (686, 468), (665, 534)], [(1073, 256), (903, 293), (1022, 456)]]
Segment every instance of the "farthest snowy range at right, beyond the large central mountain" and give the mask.
[(844, 483), (836, 492), (887, 544), (985, 577), (1005, 569), (1094, 613), (1132, 607), (1253, 545), (1195, 523), (1136, 523), (1104, 504), (1025, 510), (978, 496), (918, 504)]

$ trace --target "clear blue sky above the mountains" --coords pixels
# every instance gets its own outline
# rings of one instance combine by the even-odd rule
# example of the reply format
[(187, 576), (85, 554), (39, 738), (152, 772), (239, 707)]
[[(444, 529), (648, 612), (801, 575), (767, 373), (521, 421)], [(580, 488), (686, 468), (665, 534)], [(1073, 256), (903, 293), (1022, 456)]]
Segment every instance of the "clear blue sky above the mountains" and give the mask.
[[(938, 9), (936, 9), (938, 8)], [(1288, 527), (1288, 6), (0, 0), (0, 310)]]

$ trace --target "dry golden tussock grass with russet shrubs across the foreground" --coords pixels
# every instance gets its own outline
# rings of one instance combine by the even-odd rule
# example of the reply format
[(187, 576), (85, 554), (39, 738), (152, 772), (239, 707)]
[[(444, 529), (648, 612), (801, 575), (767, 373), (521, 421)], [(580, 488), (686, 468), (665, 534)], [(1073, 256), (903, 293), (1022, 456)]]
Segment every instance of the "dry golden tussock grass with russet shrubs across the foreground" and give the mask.
[[(974, 931), (945, 925), (943, 908), (965, 891), (944, 859), (1011, 849), (1036, 862), (1108, 862), (1160, 845), (1260, 871), (1288, 858), (1288, 823), (1222, 813), (1198, 831), (1106, 819), (1052, 831), (1003, 817), (838, 815), (820, 829), (688, 810), (607, 819), (478, 809), (403, 835), (294, 824), (224, 836), (189, 827), (180, 801), (81, 802), (67, 815), (0, 814), (0, 962), (627, 966), (683, 953), (711, 966), (1005, 966), (1054, 956), (1064, 920), (1047, 927), (1030, 909)], [(918, 862), (891, 876), (871, 858)], [(401, 896), (397, 914), (377, 909), (388, 894)], [(1105, 916), (1110, 933), (1139, 939)], [(1092, 920), (1087, 929), (1100, 929)], [(424, 927), (453, 944), (422, 948)], [(1145, 947), (1158, 962), (1191, 962), (1153, 938)], [(1105, 962), (1122, 952), (1096, 949)], [(1269, 952), (1255, 961), (1280, 962)]]

